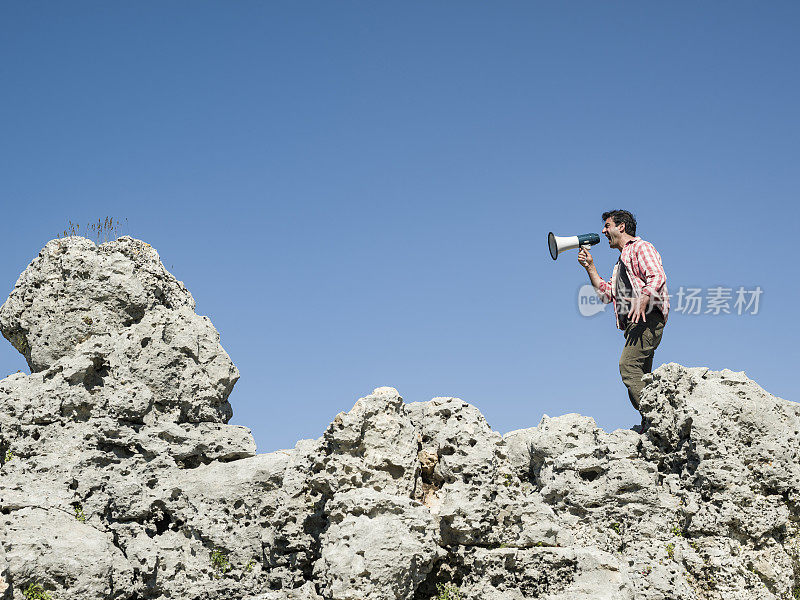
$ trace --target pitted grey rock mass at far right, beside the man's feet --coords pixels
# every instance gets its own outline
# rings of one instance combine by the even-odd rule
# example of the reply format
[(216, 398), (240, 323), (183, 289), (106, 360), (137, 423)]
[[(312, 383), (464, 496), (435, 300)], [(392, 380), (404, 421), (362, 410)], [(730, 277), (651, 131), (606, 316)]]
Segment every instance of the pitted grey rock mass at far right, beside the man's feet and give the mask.
[(800, 404), (727, 369), (669, 364), (646, 380), (642, 456), (668, 473), (676, 521), (700, 547), (690, 578), (727, 597), (800, 594)]

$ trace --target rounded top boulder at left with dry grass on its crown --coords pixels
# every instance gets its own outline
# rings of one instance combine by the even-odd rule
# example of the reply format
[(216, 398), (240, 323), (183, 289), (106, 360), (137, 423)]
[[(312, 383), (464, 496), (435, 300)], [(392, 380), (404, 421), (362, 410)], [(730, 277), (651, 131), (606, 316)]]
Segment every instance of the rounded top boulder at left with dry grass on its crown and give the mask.
[(68, 237), (49, 242), (22, 273), (0, 309), (0, 328), (31, 371), (41, 371), (155, 306), (193, 311), (194, 299), (150, 244), (126, 236), (95, 246)]

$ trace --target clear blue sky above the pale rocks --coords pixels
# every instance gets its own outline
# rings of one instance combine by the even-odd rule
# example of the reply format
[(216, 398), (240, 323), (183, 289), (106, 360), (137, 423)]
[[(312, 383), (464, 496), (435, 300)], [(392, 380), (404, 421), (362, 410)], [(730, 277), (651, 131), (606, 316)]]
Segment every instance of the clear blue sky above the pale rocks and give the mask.
[(799, 29), (781, 1), (5, 2), (3, 295), (68, 220), (127, 218), (261, 451), (383, 385), (630, 427), (613, 316), (546, 244), (627, 208), (673, 291), (763, 289), (673, 314), (656, 364), (797, 401)]

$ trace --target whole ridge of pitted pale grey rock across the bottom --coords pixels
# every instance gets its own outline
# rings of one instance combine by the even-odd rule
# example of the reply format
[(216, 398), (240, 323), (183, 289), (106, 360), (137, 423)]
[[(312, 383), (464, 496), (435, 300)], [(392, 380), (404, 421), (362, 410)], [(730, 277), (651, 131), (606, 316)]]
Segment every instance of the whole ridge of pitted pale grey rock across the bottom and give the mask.
[(611, 433), (378, 388), (256, 454), (144, 242), (51, 241), (0, 328), (31, 369), (0, 381), (5, 600), (800, 597), (800, 404), (742, 373), (663, 365)]

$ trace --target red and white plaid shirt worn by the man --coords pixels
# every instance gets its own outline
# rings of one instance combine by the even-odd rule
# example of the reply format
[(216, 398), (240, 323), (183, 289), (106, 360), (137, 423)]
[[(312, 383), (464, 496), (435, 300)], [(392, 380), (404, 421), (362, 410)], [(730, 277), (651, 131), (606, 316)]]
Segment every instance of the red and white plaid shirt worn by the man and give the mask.
[[(650, 296), (650, 303), (646, 311), (649, 312), (653, 307), (657, 307), (664, 315), (664, 323), (667, 322), (669, 314), (669, 292), (667, 292), (667, 274), (661, 264), (661, 255), (653, 244), (645, 242), (642, 238), (636, 237), (625, 244), (620, 255), (620, 260), (628, 269), (628, 275), (633, 286), (634, 297), (639, 297), (643, 293)], [(597, 295), (608, 304), (614, 303), (614, 318), (617, 320), (617, 328), (620, 327), (619, 315), (617, 314), (617, 271), (619, 263), (614, 265), (614, 272), (611, 279), (601, 281)]]

